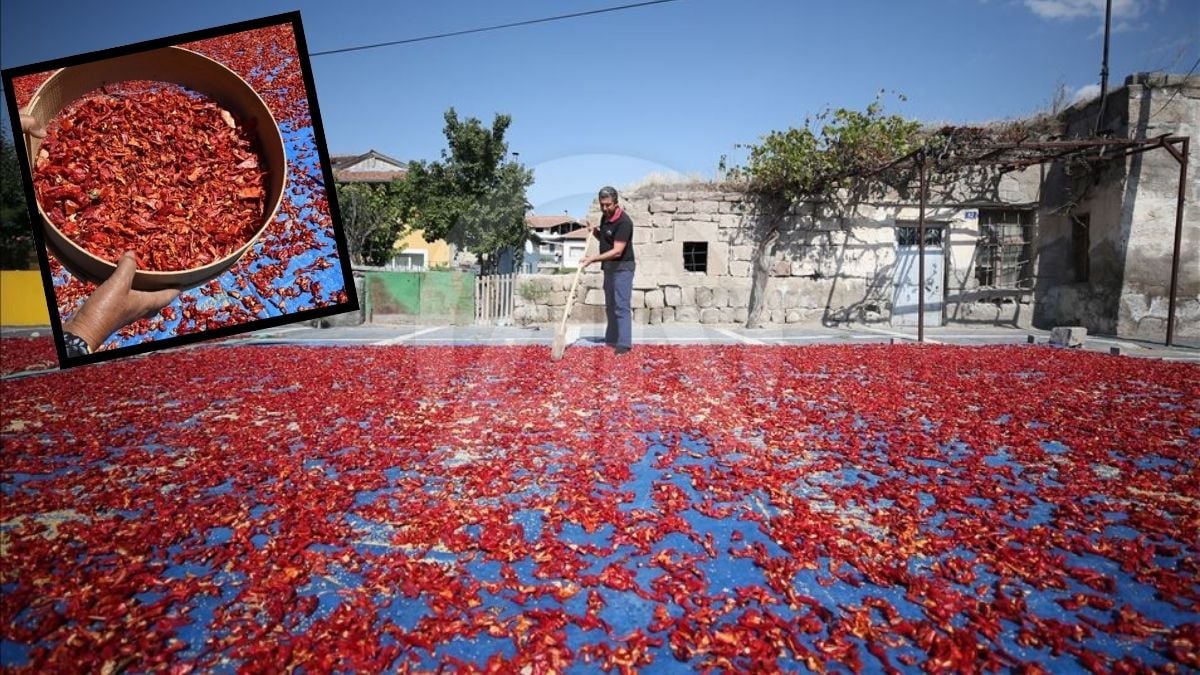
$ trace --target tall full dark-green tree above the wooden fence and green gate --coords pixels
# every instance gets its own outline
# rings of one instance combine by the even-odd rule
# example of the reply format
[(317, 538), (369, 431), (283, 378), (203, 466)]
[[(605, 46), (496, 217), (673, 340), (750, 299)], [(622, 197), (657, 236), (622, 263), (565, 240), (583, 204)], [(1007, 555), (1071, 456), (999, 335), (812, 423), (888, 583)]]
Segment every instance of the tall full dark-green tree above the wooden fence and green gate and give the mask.
[(428, 240), (470, 251), (484, 270), (494, 268), (505, 249), (520, 256), (528, 238), (526, 190), (533, 172), (506, 159), (504, 135), (511, 124), (511, 117), (498, 114), (487, 129), (475, 118), (460, 120), (450, 108), (442, 160), (409, 162), (397, 181), (404, 221)]

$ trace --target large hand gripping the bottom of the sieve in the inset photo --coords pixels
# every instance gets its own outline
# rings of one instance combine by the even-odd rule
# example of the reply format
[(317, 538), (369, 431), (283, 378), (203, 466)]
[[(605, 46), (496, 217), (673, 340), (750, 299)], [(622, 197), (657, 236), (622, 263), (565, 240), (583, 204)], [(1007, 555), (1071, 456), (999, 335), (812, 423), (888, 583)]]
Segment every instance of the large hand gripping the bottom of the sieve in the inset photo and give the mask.
[(133, 273), (138, 263), (133, 251), (126, 251), (116, 263), (116, 271), (96, 288), (62, 330), (83, 338), (95, 351), (108, 336), (126, 323), (152, 316), (179, 295), (176, 288), (133, 291)]

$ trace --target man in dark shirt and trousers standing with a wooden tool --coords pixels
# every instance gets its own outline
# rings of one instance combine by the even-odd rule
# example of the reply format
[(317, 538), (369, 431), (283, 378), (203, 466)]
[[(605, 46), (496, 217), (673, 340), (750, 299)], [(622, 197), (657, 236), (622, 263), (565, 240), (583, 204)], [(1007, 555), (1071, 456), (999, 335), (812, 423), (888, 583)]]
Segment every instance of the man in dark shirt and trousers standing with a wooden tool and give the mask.
[(600, 225), (589, 225), (592, 235), (600, 240), (600, 255), (583, 258), (587, 268), (594, 262), (604, 270), (604, 304), (608, 317), (604, 341), (618, 354), (634, 346), (634, 221), (617, 203), (617, 190), (600, 189)]

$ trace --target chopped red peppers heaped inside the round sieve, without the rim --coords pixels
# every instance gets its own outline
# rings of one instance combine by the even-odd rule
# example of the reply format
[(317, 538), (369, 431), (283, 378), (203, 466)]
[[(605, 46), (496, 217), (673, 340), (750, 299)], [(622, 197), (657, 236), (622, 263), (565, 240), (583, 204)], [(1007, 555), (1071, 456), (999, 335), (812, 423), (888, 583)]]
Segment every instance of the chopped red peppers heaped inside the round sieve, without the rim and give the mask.
[(132, 250), (146, 270), (208, 265), (263, 223), (253, 126), (170, 83), (97, 90), (48, 126), (34, 165), (38, 203), (62, 234), (114, 264)]

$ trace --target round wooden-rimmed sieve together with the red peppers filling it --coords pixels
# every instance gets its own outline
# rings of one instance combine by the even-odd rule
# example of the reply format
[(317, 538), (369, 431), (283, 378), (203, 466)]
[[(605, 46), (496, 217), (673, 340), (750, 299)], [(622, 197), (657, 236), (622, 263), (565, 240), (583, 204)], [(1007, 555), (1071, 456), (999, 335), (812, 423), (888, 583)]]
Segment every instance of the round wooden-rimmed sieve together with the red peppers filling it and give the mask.
[(166, 47), (55, 71), (25, 110), (47, 246), (76, 276), (103, 281), (125, 250), (133, 287), (190, 288), (236, 263), (275, 220), (287, 184), (283, 137), (228, 67)]

